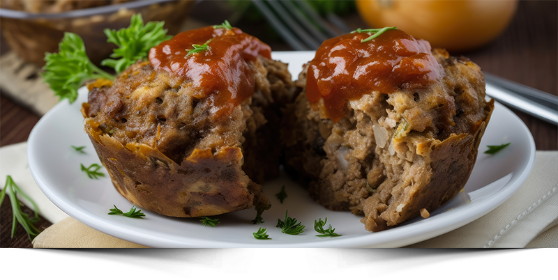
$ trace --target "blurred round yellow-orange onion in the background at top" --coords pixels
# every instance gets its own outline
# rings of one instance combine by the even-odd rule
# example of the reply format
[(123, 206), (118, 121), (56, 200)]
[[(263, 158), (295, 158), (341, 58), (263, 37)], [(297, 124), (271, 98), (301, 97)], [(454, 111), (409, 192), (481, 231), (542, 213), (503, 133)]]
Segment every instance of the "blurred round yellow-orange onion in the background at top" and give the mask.
[(397, 26), (432, 47), (465, 51), (488, 44), (511, 22), (518, 0), (356, 0), (374, 28)]

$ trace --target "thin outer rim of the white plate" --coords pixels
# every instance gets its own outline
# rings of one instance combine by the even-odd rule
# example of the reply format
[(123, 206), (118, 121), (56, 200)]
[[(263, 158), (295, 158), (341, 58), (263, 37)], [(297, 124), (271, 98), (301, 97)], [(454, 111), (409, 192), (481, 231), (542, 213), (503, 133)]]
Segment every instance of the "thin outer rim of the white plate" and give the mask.
[[(304, 55), (303, 53), (308, 54), (308, 53), (312, 53), (312, 51), (310, 52), (282, 51), (282, 52), (273, 52), (272, 55), (277, 54), (279, 56), (278, 60), (280, 60), (282, 59), (283, 56), (289, 56), (292, 55), (293, 53)], [(70, 203), (59, 199), (59, 196), (57, 196), (55, 192), (53, 192), (53, 189), (51, 189), (49, 186), (45, 184), (42, 178), (40, 178), (40, 175), (37, 173), (36, 169), (38, 169), (39, 167), (36, 165), (37, 162), (33, 158), (33, 153), (36, 153), (35, 151), (36, 147), (34, 143), (36, 141), (36, 138), (38, 137), (37, 136), (38, 127), (41, 127), (43, 123), (47, 122), (47, 120), (49, 120), (51, 116), (53, 116), (54, 114), (58, 114), (58, 111), (63, 110), (64, 107), (68, 105), (69, 105), (68, 100), (62, 100), (61, 102), (55, 104), (54, 107), (52, 107), (52, 109), (47, 111), (47, 113), (43, 117), (41, 117), (40, 120), (38, 120), (38, 123), (36, 123), (35, 127), (33, 127), (31, 133), (29, 134), (29, 138), (28, 138), (29, 144), (27, 147), (27, 160), (29, 162), (29, 169), (31, 171), (31, 175), (33, 176), (33, 179), (37, 182), (38, 187), (45, 194), (45, 196), (47, 196), (47, 198), (50, 201), (52, 201), (54, 205), (56, 205), (61, 210), (63, 210), (63, 212), (66, 212), (66, 214), (68, 214), (70, 217), (73, 217), (78, 221), (81, 221), (82, 223), (86, 224), (87, 226), (90, 226), (91, 228), (95, 228), (98, 231), (107, 233), (116, 238), (121, 238), (123, 240), (127, 240), (129, 242), (134, 242), (137, 244), (146, 244), (146, 246), (149, 247), (359, 247), (356, 246), (355, 244), (365, 244), (368, 245), (368, 247), (407, 246), (409, 244), (414, 244), (416, 242), (428, 240), (430, 238), (434, 238), (436, 236), (442, 235), (449, 231), (453, 231), (455, 228), (460, 228), (461, 226), (464, 226), (465, 224), (469, 224), (470, 222), (482, 217), (483, 215), (487, 214), (488, 212), (494, 210), (499, 205), (504, 203), (513, 194), (515, 194), (515, 192), (517, 192), (519, 187), (521, 187), (523, 182), (525, 182), (525, 180), (531, 173), (532, 168), (534, 166), (535, 152), (536, 152), (534, 139), (527, 125), (525, 125), (525, 123), (516, 114), (514, 114), (513, 111), (511, 111), (511, 109), (508, 109), (507, 107), (505, 107), (503, 104), (500, 104), (499, 102), (495, 102), (495, 109), (496, 107), (498, 107), (498, 109), (503, 109), (506, 112), (506, 114), (511, 114), (511, 116), (513, 116), (515, 120), (518, 123), (520, 123), (522, 130), (526, 132), (525, 135), (527, 136), (527, 140), (529, 141), (529, 160), (525, 162), (526, 168), (523, 169), (522, 172), (517, 177), (515, 177), (513, 182), (506, 182), (506, 184), (502, 187), (502, 189), (499, 189), (494, 194), (491, 194), (487, 199), (485, 199), (485, 201), (478, 203), (479, 205), (476, 205), (476, 207), (474, 208), (475, 210), (474, 215), (466, 215), (467, 213), (459, 213), (461, 216), (468, 216), (468, 217), (458, 219), (459, 220), (458, 222), (449, 225), (447, 224), (443, 225), (443, 223), (441, 221), (438, 221), (439, 219), (437, 219), (435, 220), (435, 222), (432, 222), (432, 224), (434, 224), (434, 227), (436, 228), (434, 231), (426, 230), (424, 227), (418, 226), (416, 224), (409, 224), (406, 226), (406, 229), (409, 229), (409, 231), (407, 231), (407, 233), (400, 234), (399, 235), (400, 238), (398, 239), (391, 239), (389, 237), (385, 237), (386, 235), (388, 235), (387, 233), (394, 230), (398, 230), (398, 228), (391, 228), (387, 231), (382, 231), (379, 233), (370, 233), (370, 234), (375, 234), (377, 236), (379, 235), (380, 236), (379, 239), (384, 240), (384, 242), (382, 241), (370, 242), (371, 235), (362, 235), (362, 236), (347, 238), (342, 240), (335, 240), (335, 241), (331, 240), (331, 242), (328, 241), (328, 242), (295, 242), (295, 243), (287, 243), (287, 244), (251, 244), (251, 243), (236, 243), (236, 242), (225, 242), (225, 241), (216, 242), (215, 240), (213, 240), (212, 242), (209, 242), (209, 244), (196, 244), (196, 242), (199, 242), (199, 240), (197, 240), (196, 238), (186, 238), (186, 240), (178, 242), (176, 240), (169, 240), (168, 238), (164, 238), (163, 236), (130, 232), (130, 229), (126, 229), (126, 228), (116, 229), (114, 228), (114, 224), (108, 223), (105, 219), (101, 219), (100, 217), (94, 217), (91, 215), (86, 215), (86, 213), (83, 213), (77, 208), (75, 208), (73, 205), (70, 205)], [(481, 152), (479, 151), (478, 153)], [(469, 211), (468, 213), (470, 214), (471, 211)], [(349, 213), (349, 215), (352, 214)], [(399, 231), (400, 230), (398, 230), (398, 233)], [(367, 240), (368, 242), (366, 242)], [(153, 244), (155, 244), (156, 246), (153, 246)]]

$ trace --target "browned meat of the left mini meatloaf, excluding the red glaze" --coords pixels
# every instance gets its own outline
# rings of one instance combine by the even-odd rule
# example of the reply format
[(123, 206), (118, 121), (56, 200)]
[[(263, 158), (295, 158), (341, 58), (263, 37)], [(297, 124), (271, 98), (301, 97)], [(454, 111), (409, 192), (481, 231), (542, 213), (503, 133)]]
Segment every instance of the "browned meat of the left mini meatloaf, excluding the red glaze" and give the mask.
[(90, 84), (84, 130), (120, 194), (172, 217), (269, 208), (261, 184), (278, 176), (280, 107), (293, 84), (284, 63), (259, 56), (249, 66), (255, 93), (218, 120), (192, 81), (149, 62)]

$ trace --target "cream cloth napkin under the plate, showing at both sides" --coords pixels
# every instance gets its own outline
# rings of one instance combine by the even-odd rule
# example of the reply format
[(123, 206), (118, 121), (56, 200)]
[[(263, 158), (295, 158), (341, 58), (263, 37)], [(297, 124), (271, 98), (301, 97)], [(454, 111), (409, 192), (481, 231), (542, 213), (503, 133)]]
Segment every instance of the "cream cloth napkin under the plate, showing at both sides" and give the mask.
[[(40, 215), (53, 223), (33, 240), (33, 247), (143, 247), (101, 233), (56, 208), (40, 192), (27, 168), (27, 142), (0, 148), (0, 179), (7, 175), (38, 204)], [(465, 226), (408, 247), (558, 248), (557, 192), (558, 151), (537, 151), (533, 171), (508, 201)]]

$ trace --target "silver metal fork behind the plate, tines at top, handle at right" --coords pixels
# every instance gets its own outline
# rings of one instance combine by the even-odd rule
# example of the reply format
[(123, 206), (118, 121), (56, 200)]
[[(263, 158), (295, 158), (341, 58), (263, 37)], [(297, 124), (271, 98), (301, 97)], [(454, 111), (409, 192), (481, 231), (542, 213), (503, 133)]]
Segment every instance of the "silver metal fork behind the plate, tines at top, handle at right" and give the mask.
[[(295, 50), (317, 49), (327, 38), (351, 30), (333, 13), (320, 17), (301, 0), (252, 0)], [(486, 93), (502, 104), (558, 125), (558, 96), (485, 73)]]

